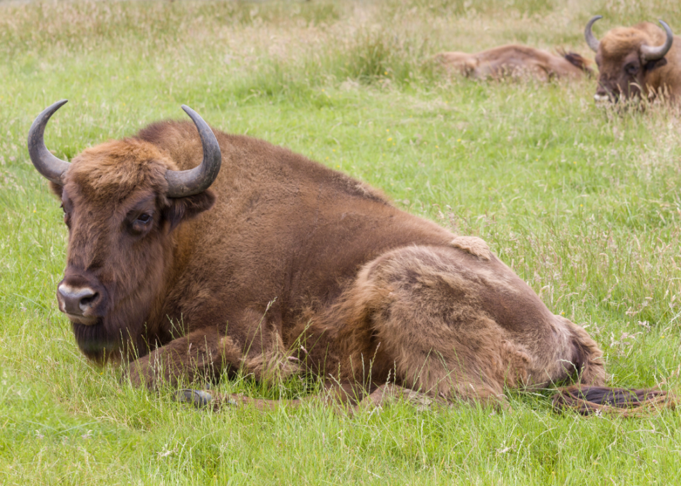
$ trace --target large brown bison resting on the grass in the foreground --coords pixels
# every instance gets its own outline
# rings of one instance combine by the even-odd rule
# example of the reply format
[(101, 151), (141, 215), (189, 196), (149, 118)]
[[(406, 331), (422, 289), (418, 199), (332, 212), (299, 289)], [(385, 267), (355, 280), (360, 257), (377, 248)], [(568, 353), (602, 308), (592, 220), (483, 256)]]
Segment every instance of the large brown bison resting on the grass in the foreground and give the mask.
[(504, 387), (604, 384), (589, 334), (479, 238), (288, 149), (212, 130), (185, 106), (194, 124), (154, 123), (67, 163), (43, 142), (65, 102), (28, 134), (69, 232), (59, 309), (85, 356), (129, 362), (133, 384), (313, 373), (349, 403), (406, 387), (497, 404)]

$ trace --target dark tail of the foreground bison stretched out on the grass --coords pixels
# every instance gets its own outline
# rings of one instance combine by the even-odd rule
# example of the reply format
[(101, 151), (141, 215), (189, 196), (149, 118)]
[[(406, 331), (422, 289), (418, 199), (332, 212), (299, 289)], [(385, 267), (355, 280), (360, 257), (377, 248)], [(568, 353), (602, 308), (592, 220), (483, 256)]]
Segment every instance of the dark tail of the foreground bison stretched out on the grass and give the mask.
[(674, 409), (676, 401), (675, 396), (657, 388), (626, 389), (575, 384), (557, 389), (553, 407), (557, 412), (575, 410), (582, 415), (639, 417), (653, 410)]

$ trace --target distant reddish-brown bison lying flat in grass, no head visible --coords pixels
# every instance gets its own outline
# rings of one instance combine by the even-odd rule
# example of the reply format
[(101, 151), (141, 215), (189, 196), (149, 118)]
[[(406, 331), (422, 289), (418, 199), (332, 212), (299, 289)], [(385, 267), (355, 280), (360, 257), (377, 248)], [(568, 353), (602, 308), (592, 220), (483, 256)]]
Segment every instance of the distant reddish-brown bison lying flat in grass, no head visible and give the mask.
[(555, 56), (533, 47), (510, 44), (495, 47), (477, 54), (443, 52), (436, 60), (448, 72), (474, 79), (527, 78), (537, 81), (566, 78), (580, 79), (591, 75), (586, 59), (573, 52)]

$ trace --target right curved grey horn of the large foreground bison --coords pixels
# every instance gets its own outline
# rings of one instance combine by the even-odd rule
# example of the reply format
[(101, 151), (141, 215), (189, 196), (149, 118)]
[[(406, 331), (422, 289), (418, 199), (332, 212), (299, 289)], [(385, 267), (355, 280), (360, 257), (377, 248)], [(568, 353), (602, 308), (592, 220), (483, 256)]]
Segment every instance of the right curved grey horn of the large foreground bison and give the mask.
[(196, 125), (204, 149), (204, 160), (197, 167), (190, 170), (168, 170), (165, 172), (165, 180), (168, 181), (168, 197), (185, 197), (198, 194), (213, 184), (215, 177), (220, 172), (222, 154), (220, 145), (215, 138), (213, 130), (208, 127), (198, 113), (186, 105), (182, 109), (189, 115)]

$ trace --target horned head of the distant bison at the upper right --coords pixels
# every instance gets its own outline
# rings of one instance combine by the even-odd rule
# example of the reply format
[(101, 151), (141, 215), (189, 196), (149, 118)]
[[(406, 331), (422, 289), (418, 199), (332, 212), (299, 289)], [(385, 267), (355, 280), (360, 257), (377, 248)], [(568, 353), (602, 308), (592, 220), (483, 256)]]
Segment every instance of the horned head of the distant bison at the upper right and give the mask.
[[(584, 29), (586, 44), (596, 52), (596, 64), (600, 75), (594, 99), (596, 101), (617, 101), (648, 94), (648, 74), (664, 66), (664, 55), (671, 49), (674, 35), (669, 26), (664, 27), (666, 38), (660, 29), (650, 22), (634, 27), (618, 27), (609, 31), (602, 40), (596, 39), (591, 26), (601, 15), (596, 15)], [(662, 45), (657, 45), (662, 42)]]

